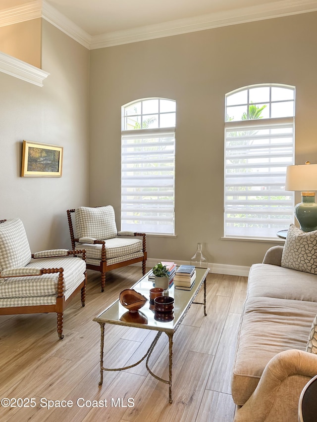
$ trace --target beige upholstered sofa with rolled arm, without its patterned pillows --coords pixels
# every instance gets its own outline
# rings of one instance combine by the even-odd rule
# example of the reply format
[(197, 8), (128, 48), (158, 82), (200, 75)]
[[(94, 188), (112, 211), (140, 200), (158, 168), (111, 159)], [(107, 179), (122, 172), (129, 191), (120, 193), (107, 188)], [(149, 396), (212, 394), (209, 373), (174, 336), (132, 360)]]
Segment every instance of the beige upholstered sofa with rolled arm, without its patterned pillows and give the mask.
[(232, 374), (234, 422), (297, 422), (317, 374), (306, 347), (317, 314), (317, 275), (281, 267), (282, 246), (251, 267)]

